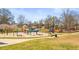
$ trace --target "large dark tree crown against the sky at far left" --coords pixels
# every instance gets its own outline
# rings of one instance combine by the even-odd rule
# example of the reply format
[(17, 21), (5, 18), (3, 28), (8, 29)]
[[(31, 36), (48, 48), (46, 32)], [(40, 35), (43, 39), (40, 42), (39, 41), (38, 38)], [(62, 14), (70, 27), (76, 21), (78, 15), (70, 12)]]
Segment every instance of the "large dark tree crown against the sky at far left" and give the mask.
[(10, 24), (12, 21), (14, 21), (13, 18), (14, 16), (8, 9), (0, 9), (0, 24)]

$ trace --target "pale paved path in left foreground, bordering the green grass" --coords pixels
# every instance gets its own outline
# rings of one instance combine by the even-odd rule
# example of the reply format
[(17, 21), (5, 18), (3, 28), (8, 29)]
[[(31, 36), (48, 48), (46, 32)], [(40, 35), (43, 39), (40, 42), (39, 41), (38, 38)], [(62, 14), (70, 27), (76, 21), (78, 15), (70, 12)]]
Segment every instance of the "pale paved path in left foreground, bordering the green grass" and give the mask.
[(0, 47), (29, 41), (32, 39), (0, 39)]

